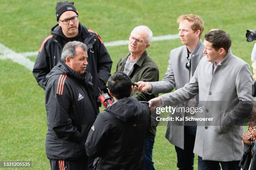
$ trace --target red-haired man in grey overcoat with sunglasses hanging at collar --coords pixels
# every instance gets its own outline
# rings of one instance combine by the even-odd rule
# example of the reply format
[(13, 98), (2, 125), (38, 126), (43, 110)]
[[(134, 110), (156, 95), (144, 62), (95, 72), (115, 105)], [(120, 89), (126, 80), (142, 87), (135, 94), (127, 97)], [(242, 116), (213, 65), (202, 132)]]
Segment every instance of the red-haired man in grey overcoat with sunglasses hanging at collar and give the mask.
[[(183, 45), (170, 52), (169, 66), (163, 80), (159, 82), (139, 81), (137, 82), (139, 85), (137, 90), (147, 90), (149, 94), (171, 92), (174, 88), (183, 87), (194, 75), (197, 65), (204, 55), (204, 45), (200, 39), (204, 30), (204, 23), (199, 16), (192, 14), (179, 16), (177, 23), (179, 23), (179, 37)], [(191, 101), (193, 100), (198, 101), (198, 95), (192, 98)], [(185, 102), (179, 106), (193, 107), (192, 103)], [(196, 128), (195, 125), (177, 126), (168, 123), (165, 137), (175, 145), (179, 170), (194, 169), (195, 156), (193, 149)]]

